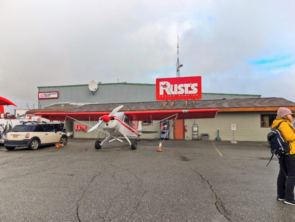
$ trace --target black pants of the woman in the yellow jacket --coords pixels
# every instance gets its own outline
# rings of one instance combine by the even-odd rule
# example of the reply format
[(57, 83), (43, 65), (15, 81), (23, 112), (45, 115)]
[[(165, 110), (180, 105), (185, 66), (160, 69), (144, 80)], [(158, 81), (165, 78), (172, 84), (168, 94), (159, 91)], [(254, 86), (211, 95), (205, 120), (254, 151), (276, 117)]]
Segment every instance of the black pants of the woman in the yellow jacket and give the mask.
[(281, 198), (285, 197), (285, 200), (294, 200), (295, 154), (283, 155), (279, 159), (279, 164), (280, 172), (278, 173), (277, 180), (278, 196)]

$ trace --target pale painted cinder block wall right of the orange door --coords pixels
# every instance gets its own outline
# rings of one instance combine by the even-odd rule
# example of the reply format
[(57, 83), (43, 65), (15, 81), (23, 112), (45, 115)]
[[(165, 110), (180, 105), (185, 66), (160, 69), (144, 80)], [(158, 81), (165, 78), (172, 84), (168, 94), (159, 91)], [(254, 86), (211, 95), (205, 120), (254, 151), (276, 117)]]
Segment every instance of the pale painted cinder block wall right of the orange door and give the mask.
[[(221, 140), (232, 140), (231, 124), (236, 124), (234, 132), (236, 141), (263, 141), (266, 142), (270, 128), (260, 127), (260, 114), (276, 114), (276, 112), (219, 112), (214, 119), (186, 119), (188, 126), (186, 139), (192, 139), (192, 126), (198, 124), (199, 138), (202, 133), (209, 133), (209, 140), (215, 140), (217, 130)], [(188, 138), (187, 138), (188, 137)]]

